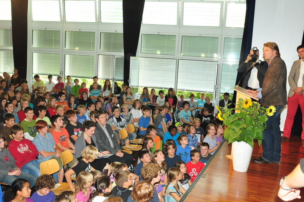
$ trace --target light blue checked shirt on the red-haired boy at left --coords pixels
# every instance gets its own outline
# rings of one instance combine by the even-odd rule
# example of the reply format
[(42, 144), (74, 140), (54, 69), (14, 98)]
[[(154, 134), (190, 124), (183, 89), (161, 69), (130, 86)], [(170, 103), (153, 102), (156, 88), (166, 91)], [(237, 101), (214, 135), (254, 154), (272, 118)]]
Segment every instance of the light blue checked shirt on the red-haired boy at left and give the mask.
[(46, 137), (44, 138), (39, 134), (39, 132), (37, 132), (37, 135), (33, 139), (33, 144), (36, 146), (36, 148), (39, 152), (38, 159), (40, 159), (42, 161), (47, 161), (50, 158), (52, 158), (54, 155), (43, 157), (40, 154), (40, 151), (44, 150), (45, 152), (55, 152), (55, 149), (54, 149), (55, 141), (54, 141), (52, 134), (46, 133), (45, 136)]

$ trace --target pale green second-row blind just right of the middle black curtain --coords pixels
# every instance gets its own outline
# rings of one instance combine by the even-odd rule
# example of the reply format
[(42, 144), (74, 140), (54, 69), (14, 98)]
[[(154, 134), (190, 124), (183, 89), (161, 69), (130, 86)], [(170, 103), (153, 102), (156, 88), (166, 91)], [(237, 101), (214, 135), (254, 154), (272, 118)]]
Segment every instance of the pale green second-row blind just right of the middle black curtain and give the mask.
[(175, 46), (175, 35), (141, 35), (141, 53), (175, 55)]

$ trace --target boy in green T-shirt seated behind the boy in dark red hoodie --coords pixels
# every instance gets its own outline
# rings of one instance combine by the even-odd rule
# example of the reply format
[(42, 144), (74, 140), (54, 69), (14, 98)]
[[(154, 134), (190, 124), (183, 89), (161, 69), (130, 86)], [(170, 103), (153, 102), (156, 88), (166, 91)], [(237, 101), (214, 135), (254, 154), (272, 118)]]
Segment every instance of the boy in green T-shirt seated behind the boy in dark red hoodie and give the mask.
[(24, 131), (24, 138), (33, 141), (37, 133), (35, 127), (36, 121), (33, 120), (34, 117), (33, 109), (30, 107), (26, 107), (24, 109), (24, 114), (26, 118), (20, 123)]

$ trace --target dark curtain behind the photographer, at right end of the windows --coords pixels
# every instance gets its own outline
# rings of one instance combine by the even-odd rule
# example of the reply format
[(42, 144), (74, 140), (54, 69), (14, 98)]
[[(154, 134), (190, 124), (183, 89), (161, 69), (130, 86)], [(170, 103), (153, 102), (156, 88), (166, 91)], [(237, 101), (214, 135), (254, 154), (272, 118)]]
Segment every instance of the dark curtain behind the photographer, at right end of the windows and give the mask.
[[(246, 1), (246, 17), (245, 17), (245, 24), (244, 24), (244, 32), (243, 32), (243, 40), (242, 40), (242, 47), (240, 53), (240, 61), (239, 65), (247, 59), (249, 51), (251, 49), (251, 42), (252, 42), (252, 32), (253, 32), (253, 22), (254, 22), (254, 9), (255, 9), (255, 0), (247, 0)], [(237, 80), (235, 85), (238, 84), (240, 78), (242, 77), (243, 73), (237, 72)], [(242, 79), (243, 80), (243, 79)], [(242, 85), (242, 82), (240, 83)], [(233, 99), (232, 102), (236, 103), (237, 92), (233, 92)]]

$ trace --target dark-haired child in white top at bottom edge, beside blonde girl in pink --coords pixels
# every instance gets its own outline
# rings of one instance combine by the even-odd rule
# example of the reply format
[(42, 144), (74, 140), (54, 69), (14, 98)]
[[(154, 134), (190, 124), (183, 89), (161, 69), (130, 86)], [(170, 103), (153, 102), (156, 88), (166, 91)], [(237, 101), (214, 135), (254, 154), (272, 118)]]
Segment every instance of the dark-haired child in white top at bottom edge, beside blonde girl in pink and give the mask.
[(112, 183), (108, 176), (102, 176), (95, 182), (95, 190), (91, 193), (88, 202), (103, 202), (111, 195)]

